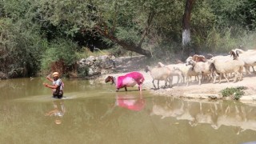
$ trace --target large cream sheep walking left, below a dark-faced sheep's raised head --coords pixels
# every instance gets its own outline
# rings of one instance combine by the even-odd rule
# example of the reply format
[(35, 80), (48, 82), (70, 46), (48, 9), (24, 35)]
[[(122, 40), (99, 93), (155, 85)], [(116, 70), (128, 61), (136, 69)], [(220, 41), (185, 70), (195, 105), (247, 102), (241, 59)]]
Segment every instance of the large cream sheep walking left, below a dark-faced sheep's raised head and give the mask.
[[(222, 75), (226, 78), (226, 74), (235, 73), (234, 82), (237, 81), (239, 76), (239, 80), (242, 80), (242, 70), (244, 66), (244, 62), (238, 60), (238, 55), (234, 52), (234, 50), (230, 51), (230, 54), (234, 57), (234, 60), (226, 60), (218, 58), (212, 58), (210, 61), (214, 63), (216, 71), (220, 74), (219, 82), (221, 82)], [(214, 82), (216, 81), (216, 77), (214, 77)], [(229, 82), (228, 78), (226, 78), (226, 82)]]

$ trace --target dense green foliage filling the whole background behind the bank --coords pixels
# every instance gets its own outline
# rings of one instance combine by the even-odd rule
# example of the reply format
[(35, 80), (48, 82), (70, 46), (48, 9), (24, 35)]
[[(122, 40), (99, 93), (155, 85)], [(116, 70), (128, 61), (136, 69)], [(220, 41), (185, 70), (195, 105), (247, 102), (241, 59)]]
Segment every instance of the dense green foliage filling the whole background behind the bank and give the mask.
[[(145, 31), (142, 48), (154, 58), (171, 61), (182, 50), (184, 7), (185, 1), (174, 0), (0, 0), (0, 70), (22, 68), (36, 74), (60, 59), (71, 66), (87, 55), (78, 54), (75, 41), (82, 45), (93, 37), (113, 45), (115, 55), (129, 54), (117, 42), (136, 46)], [(255, 7), (254, 1), (195, 1), (190, 19), (192, 46), (214, 53), (239, 45), (254, 48)], [(96, 26), (120, 41), (102, 38)], [(89, 38), (77, 38), (87, 33)]]

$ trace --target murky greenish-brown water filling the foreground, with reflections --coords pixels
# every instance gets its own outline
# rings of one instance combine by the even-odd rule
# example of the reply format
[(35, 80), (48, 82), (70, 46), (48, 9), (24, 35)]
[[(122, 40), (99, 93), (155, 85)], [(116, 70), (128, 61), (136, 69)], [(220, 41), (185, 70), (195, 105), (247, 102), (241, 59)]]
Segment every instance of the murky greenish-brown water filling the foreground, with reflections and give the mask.
[(105, 83), (65, 82), (51, 98), (45, 78), (0, 81), (0, 143), (244, 143), (256, 141), (256, 107), (193, 102)]

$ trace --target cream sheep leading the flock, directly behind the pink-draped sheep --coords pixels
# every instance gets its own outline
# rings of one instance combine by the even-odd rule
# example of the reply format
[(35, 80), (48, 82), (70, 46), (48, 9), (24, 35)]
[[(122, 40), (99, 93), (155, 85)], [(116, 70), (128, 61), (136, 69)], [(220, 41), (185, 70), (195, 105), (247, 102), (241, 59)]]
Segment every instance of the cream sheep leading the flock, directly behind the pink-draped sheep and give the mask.
[[(154, 80), (158, 80), (158, 89), (159, 89), (159, 81), (165, 81), (165, 86), (167, 82), (172, 82), (172, 79), (170, 78), (171, 70), (167, 67), (150, 67), (146, 66), (145, 69), (146, 72), (150, 71), (150, 75), (153, 78), (153, 86), (156, 89), (156, 86), (154, 85)], [(171, 86), (171, 83), (170, 83)]]

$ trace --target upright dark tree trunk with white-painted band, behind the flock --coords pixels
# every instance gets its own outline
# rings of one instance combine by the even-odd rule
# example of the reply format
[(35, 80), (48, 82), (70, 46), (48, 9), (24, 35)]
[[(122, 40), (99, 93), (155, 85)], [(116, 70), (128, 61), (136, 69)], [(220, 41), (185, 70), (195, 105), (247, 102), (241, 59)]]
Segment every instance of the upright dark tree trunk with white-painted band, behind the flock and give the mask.
[(182, 54), (188, 56), (190, 54), (190, 17), (195, 0), (186, 0), (186, 7), (182, 21)]

